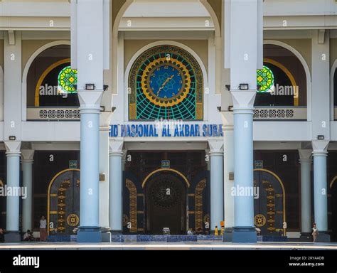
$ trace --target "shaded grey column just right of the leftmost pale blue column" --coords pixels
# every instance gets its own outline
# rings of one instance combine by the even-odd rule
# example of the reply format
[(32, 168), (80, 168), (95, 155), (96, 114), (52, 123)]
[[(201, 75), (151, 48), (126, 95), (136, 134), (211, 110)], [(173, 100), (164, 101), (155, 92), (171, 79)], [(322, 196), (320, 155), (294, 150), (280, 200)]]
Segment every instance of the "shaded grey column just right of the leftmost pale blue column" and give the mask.
[(32, 230), (34, 150), (21, 151), (21, 168), (26, 199), (22, 200), (22, 231)]

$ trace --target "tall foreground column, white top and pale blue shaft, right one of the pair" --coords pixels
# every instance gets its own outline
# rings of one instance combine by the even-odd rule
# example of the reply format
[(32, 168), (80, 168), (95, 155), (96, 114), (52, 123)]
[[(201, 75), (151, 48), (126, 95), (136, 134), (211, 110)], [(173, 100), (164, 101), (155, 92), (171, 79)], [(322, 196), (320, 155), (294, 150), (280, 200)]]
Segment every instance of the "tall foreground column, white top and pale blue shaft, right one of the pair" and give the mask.
[[(262, 0), (230, 1), (225, 18), (230, 31), (230, 92), (234, 114), (235, 188), (245, 190), (253, 183), (253, 110), (257, 92), (256, 71), (262, 68)], [(240, 29), (240, 31), (237, 31)], [(226, 35), (226, 37), (228, 37)], [(244, 38), (245, 42), (242, 42)], [(256, 242), (254, 196), (235, 195), (233, 242)]]

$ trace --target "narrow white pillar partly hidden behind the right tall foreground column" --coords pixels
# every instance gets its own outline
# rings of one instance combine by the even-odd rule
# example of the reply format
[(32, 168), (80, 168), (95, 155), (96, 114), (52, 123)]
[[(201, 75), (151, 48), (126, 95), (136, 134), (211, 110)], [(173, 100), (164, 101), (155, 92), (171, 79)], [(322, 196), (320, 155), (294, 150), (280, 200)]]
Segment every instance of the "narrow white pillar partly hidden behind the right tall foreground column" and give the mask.
[(232, 241), (232, 228), (235, 226), (234, 218), (234, 126), (233, 113), (221, 112), (223, 115), (223, 175), (225, 199), (225, 235), (224, 240)]

